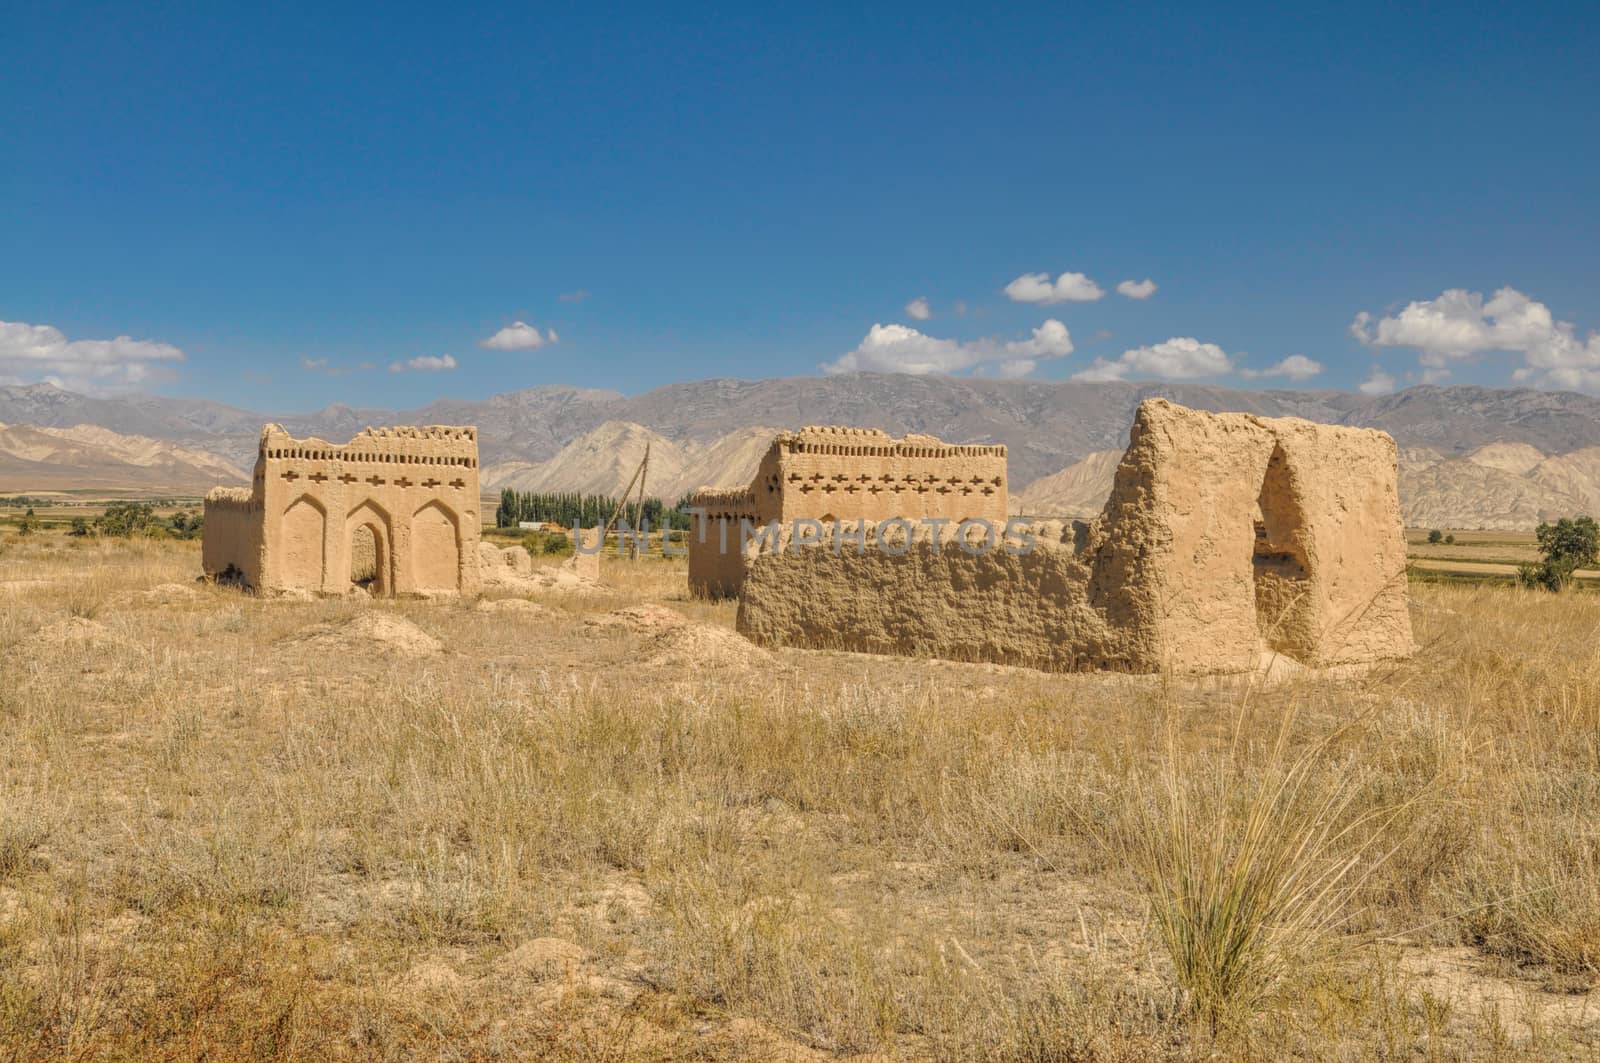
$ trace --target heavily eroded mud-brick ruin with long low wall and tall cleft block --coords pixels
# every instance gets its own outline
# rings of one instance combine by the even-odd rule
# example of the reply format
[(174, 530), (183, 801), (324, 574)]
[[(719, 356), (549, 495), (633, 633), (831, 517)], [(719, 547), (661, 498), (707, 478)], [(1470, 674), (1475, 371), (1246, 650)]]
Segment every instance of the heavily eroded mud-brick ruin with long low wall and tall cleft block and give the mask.
[[(830, 455), (826, 475), (864, 483), (851, 461)], [(774, 471), (803, 482), (787, 480), (789, 467), (763, 466), (744, 506)], [(987, 464), (973, 479), (998, 485), (1003, 471)], [(947, 541), (934, 549), (918, 532), (891, 554), (843, 538), (842, 549), (829, 540), (795, 549), (786, 530), (741, 557), (738, 626), (768, 645), (1050, 671), (1232, 672), (1274, 658), (1328, 666), (1413, 652), (1395, 445), (1384, 432), (1152, 399), (1101, 515), (1032, 535), (1027, 552), (1018, 540), (1019, 552), (970, 554)]]

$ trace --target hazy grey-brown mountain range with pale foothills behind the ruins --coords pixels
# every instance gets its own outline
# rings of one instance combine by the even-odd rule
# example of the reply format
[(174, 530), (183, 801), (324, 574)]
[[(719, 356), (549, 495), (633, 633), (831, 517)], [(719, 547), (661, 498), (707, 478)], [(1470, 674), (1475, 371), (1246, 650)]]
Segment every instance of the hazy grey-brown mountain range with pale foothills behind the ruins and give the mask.
[[(1584, 451), (1600, 448), (1600, 399), (1576, 392), (1421, 386), (1360, 395), (872, 373), (706, 379), (640, 395), (546, 386), (482, 400), (440, 399), (413, 410), (330, 405), (310, 413), (261, 413), (158, 395), (88, 397), (26, 384), (0, 387), (0, 423), (58, 429), (91, 424), (210, 455), (237, 471), (254, 461), (261, 424), (269, 421), (296, 435), (333, 442), (368, 424), (477, 424), (486, 488), (611, 493), (621, 491), (648, 442), (646, 487), (662, 498), (701, 483), (747, 479), (773, 431), (854, 424), (896, 435), (926, 432), (950, 442), (1005, 443), (1021, 501), (1070, 501), (1082, 507), (1094, 493), (1094, 475), (1106, 471), (1104, 451), (1122, 450), (1133, 410), (1157, 395), (1202, 410), (1384, 429), (1403, 451), (1408, 520), (1426, 517), (1416, 522), (1429, 527), (1526, 527), (1538, 514), (1589, 506), (1590, 458)], [(1485, 450), (1490, 445), (1499, 450)], [(1510, 453), (1520, 456), (1510, 461)], [(1534, 453), (1538, 461), (1531, 461)], [(0, 440), (0, 490), (18, 487), (19, 467), (8, 455), (10, 445)], [(1507, 461), (1514, 467), (1504, 467)], [(85, 458), (75, 467), (90, 466), (93, 461)], [(109, 479), (115, 475), (107, 472)], [(1035, 483), (1045, 477), (1054, 483)]]

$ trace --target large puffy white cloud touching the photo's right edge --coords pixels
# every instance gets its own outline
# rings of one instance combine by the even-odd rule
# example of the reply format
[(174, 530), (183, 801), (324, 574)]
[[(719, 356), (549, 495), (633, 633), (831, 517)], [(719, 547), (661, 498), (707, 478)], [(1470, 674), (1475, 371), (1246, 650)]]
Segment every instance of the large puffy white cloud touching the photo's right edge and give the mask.
[(1522, 355), (1517, 381), (1600, 391), (1600, 333), (1579, 339), (1571, 322), (1555, 320), (1550, 307), (1515, 288), (1501, 288), (1490, 299), (1450, 288), (1437, 299), (1406, 304), (1394, 317), (1362, 311), (1350, 335), (1371, 347), (1418, 351), (1424, 378), (1435, 381), (1453, 365), (1504, 351)]

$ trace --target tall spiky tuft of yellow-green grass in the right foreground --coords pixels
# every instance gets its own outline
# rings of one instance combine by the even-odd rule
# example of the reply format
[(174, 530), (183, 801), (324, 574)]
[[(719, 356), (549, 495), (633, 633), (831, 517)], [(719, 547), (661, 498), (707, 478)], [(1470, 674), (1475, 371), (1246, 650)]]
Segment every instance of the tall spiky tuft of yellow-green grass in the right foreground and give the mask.
[(1170, 743), (1154, 778), (1133, 773), (1120, 848), (1184, 1005), (1213, 1036), (1338, 959), (1352, 897), (1392, 852), (1374, 828), (1400, 808), (1362, 805), (1336, 736), (1291, 756), (1291, 724), (1293, 712), (1258, 767)]

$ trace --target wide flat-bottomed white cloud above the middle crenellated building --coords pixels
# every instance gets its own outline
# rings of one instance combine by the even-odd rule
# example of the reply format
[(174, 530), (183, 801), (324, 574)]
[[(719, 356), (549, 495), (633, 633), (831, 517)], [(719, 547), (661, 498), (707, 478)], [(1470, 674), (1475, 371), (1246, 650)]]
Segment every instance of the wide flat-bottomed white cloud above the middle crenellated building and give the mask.
[(1072, 354), (1072, 333), (1056, 319), (1027, 339), (939, 339), (909, 325), (874, 325), (854, 351), (827, 362), (824, 373), (960, 373), (987, 371), (1026, 376), (1038, 362)]

